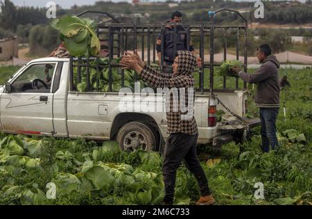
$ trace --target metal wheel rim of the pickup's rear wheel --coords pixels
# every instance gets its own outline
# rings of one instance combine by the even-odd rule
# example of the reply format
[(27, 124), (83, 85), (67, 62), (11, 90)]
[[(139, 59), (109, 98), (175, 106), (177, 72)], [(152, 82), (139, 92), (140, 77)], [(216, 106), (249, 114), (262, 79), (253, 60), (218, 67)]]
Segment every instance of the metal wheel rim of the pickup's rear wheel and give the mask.
[(139, 131), (130, 131), (125, 138), (123, 138), (123, 148), (127, 150), (147, 149), (146, 137)]

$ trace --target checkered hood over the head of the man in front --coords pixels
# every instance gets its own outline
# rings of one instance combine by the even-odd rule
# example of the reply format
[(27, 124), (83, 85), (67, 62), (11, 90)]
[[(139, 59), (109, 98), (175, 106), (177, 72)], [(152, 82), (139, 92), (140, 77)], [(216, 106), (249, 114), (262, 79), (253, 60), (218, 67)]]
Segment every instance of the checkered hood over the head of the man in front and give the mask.
[(191, 51), (177, 51), (177, 74), (190, 75), (196, 67), (196, 57)]

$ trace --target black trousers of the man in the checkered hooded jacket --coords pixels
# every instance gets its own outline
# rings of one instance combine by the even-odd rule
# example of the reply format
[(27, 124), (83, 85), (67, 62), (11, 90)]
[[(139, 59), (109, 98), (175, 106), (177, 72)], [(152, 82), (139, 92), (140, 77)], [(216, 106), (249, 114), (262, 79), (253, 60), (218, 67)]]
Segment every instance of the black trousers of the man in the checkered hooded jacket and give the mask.
[(166, 191), (164, 202), (166, 204), (173, 204), (175, 176), (183, 159), (189, 171), (196, 177), (201, 195), (211, 194), (205, 172), (197, 157), (197, 138), (198, 134), (191, 136), (185, 133), (172, 133), (168, 137), (162, 166)]

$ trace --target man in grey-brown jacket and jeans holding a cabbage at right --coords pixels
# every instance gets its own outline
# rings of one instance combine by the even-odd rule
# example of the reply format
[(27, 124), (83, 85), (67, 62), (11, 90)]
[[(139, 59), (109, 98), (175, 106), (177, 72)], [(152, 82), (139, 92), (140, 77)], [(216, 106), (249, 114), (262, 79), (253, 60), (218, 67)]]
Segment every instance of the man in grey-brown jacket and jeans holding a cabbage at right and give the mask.
[(279, 61), (271, 54), (268, 44), (257, 48), (257, 58), (262, 65), (254, 74), (241, 72), (239, 67), (232, 67), (232, 70), (243, 81), (257, 84), (255, 102), (260, 108), (261, 149), (268, 152), (270, 145), (272, 149), (279, 149), (275, 125), (279, 113)]

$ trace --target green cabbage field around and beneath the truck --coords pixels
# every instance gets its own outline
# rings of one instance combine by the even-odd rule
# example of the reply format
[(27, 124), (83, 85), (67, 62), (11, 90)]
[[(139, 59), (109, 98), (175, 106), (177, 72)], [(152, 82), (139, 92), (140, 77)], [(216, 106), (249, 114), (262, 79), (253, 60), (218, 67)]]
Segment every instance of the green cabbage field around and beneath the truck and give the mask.
[[(6, 67), (3, 75), (0, 67), (1, 83), (15, 70)], [(259, 128), (241, 146), (229, 143), (220, 152), (198, 146), (216, 204), (312, 204), (311, 73), (279, 70), (291, 83), (281, 90), (286, 120), (280, 108), (279, 151), (261, 152)], [(249, 115), (257, 116), (252, 99), (248, 106)], [(257, 183), (263, 184), (263, 198), (254, 196)], [(195, 204), (199, 195), (182, 164), (175, 204)], [(0, 204), (162, 204), (163, 197), (157, 152), (123, 152), (115, 141), (0, 135)]]

